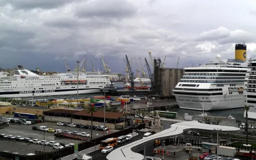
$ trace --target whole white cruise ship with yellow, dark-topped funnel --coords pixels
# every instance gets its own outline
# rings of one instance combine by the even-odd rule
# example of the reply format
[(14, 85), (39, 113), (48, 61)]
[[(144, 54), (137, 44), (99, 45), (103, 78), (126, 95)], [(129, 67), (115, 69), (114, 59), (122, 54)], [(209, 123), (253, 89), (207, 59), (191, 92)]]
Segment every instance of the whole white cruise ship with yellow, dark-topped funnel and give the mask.
[[(236, 45), (236, 59), (222, 59), (198, 67), (186, 67), (174, 95), (182, 109), (223, 110), (243, 107), (243, 84), (248, 70), (246, 46)], [(237, 52), (239, 50), (239, 52)], [(237, 54), (242, 54), (239, 57)], [(256, 64), (256, 63), (255, 63)]]

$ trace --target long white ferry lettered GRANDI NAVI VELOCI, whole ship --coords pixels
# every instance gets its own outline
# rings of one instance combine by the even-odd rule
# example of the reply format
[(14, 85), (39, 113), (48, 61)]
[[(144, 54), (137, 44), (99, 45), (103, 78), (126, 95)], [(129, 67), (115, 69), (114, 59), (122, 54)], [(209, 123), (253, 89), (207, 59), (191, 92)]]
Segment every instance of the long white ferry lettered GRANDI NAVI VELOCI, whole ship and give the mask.
[(0, 98), (99, 93), (109, 82), (108, 75), (61, 73), (38, 75), (18, 66), (12, 77), (0, 78)]

